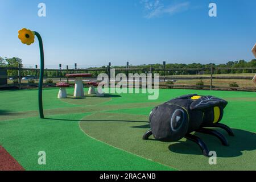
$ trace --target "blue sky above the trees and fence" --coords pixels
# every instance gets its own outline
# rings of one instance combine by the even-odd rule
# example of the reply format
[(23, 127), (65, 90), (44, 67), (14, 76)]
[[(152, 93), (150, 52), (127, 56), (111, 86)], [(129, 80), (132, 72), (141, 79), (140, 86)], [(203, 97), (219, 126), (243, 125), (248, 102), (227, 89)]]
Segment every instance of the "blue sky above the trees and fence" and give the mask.
[[(38, 16), (40, 2), (46, 17)], [(210, 2), (217, 17), (208, 15)], [(255, 0), (0, 0), (0, 56), (39, 64), (38, 41), (18, 39), (26, 27), (42, 35), (46, 65), (251, 60), (255, 12)]]

